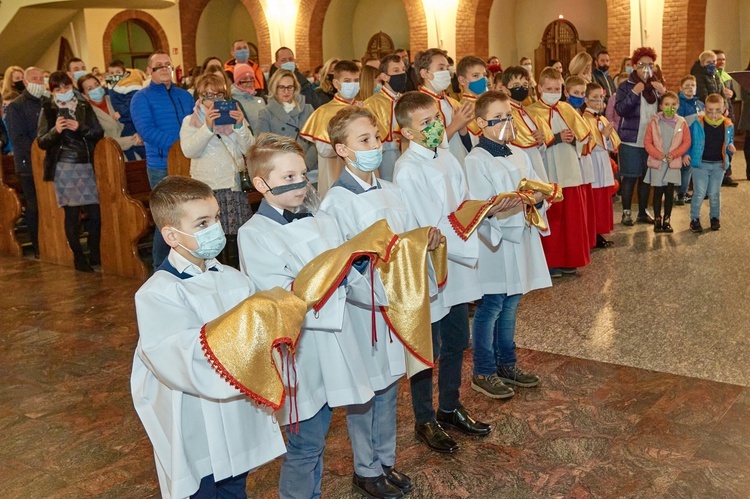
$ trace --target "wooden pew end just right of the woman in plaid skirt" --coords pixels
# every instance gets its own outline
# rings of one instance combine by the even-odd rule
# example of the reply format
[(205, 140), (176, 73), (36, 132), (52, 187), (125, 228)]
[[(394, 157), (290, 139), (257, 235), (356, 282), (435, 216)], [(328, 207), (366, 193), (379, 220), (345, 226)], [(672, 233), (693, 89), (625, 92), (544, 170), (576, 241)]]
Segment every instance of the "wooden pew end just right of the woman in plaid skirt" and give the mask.
[(148, 269), (138, 254), (138, 241), (151, 221), (146, 162), (126, 162), (119, 144), (104, 138), (96, 145), (94, 164), (102, 213), (102, 272), (146, 280)]

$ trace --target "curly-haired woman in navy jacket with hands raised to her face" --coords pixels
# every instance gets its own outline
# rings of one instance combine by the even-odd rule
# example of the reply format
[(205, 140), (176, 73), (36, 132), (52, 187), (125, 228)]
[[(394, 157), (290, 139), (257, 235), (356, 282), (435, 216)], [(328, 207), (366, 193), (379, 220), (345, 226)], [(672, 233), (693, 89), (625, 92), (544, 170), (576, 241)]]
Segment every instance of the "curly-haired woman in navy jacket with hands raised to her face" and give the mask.
[(654, 75), (656, 52), (650, 47), (641, 47), (633, 52), (635, 68), (630, 77), (617, 87), (615, 111), (620, 115), (617, 133), (622, 140), (620, 145), (620, 175), (622, 175), (622, 224), (633, 225), (630, 206), (633, 191), (638, 184), (638, 217), (636, 222), (654, 223), (646, 211), (651, 186), (644, 182), (648, 153), (643, 139), (652, 116), (659, 107), (659, 99), (664, 95), (664, 85)]

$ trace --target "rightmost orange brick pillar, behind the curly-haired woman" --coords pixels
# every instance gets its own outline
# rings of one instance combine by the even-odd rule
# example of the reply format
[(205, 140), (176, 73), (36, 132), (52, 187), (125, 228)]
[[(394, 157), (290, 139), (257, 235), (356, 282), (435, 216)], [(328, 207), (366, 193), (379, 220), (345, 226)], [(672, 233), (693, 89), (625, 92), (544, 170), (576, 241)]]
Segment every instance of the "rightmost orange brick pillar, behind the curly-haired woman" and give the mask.
[(662, 53), (657, 64), (669, 88), (690, 73), (706, 43), (706, 0), (665, 0), (662, 19)]

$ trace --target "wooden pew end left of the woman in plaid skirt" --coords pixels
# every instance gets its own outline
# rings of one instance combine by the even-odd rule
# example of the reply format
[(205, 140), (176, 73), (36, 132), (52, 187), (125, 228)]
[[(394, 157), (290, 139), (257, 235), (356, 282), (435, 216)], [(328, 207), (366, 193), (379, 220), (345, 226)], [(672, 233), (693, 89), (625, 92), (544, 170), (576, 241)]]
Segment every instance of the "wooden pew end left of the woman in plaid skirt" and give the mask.
[(65, 237), (65, 212), (57, 206), (53, 182), (45, 182), (45, 152), (34, 141), (31, 148), (31, 169), (34, 174), (37, 206), (39, 207), (39, 259), (57, 265), (73, 266), (73, 252)]

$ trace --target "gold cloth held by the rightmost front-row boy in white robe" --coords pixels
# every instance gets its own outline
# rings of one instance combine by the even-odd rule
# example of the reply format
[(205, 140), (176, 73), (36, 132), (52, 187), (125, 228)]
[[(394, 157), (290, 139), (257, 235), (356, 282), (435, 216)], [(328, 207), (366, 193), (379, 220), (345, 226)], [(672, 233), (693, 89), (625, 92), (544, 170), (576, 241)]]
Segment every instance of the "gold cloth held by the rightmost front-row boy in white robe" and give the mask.
[(535, 192), (544, 194), (549, 203), (558, 203), (563, 199), (562, 189), (559, 185), (522, 178), (514, 192), (501, 192), (489, 201), (464, 201), (456, 211), (448, 215), (448, 221), (450, 221), (451, 227), (453, 227), (456, 234), (466, 241), (477, 227), (479, 227), (479, 224), (487, 216), (490, 208), (497, 205), (503, 199), (518, 198), (524, 205), (526, 225), (533, 225), (541, 231), (546, 231), (547, 224), (544, 221), (544, 217), (542, 217), (535, 206)]

